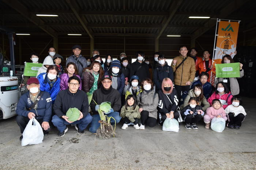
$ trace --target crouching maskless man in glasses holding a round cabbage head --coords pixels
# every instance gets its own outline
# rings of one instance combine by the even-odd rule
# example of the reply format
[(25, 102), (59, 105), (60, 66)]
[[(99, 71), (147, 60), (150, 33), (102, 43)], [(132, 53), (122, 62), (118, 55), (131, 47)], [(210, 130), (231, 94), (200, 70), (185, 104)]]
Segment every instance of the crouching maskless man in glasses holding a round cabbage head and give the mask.
[[(58, 137), (63, 137), (68, 131), (68, 124), (76, 124), (75, 128), (78, 134), (83, 134), (84, 129), (91, 123), (91, 115), (88, 113), (89, 103), (84, 91), (78, 90), (80, 79), (72, 76), (68, 79), (68, 89), (62, 90), (57, 95), (53, 110), (56, 115), (52, 117), (52, 123), (59, 130)], [(69, 108), (78, 108), (80, 117), (71, 122), (68, 120), (66, 113)]]

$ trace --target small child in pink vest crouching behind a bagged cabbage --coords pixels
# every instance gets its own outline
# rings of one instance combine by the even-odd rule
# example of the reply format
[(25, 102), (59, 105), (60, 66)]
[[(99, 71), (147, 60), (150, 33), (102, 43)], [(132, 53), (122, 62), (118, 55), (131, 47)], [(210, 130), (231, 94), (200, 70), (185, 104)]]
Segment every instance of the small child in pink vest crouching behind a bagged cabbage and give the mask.
[(204, 123), (206, 124), (205, 128), (210, 128), (210, 123), (213, 118), (223, 118), (227, 120), (226, 112), (222, 107), (221, 101), (219, 99), (212, 100), (212, 107), (207, 108), (206, 114), (204, 115)]

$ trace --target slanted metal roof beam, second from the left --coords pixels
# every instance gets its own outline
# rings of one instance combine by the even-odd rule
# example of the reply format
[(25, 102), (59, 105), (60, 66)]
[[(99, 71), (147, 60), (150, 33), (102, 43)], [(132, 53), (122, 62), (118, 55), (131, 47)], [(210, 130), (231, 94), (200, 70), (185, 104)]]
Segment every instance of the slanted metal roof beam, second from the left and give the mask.
[(84, 17), (81, 14), (79, 14), (79, 12), (80, 12), (79, 5), (76, 3), (76, 1), (72, 1), (71, 2), (71, 0), (66, 0), (66, 2), (68, 3), (69, 7), (72, 9), (72, 11), (74, 12), (75, 16), (80, 21), (80, 23), (82, 24), (83, 28), (88, 33), (90, 38), (93, 39), (93, 33), (91, 32), (91, 30), (89, 28), (87, 28), (86, 20), (84, 19)]

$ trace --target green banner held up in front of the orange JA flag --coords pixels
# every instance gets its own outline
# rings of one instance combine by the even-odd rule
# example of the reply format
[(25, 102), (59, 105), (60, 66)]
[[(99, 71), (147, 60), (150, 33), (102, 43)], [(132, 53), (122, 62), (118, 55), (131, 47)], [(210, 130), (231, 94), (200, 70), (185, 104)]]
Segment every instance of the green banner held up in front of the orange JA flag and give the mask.
[(216, 64), (216, 77), (240, 77), (240, 63)]

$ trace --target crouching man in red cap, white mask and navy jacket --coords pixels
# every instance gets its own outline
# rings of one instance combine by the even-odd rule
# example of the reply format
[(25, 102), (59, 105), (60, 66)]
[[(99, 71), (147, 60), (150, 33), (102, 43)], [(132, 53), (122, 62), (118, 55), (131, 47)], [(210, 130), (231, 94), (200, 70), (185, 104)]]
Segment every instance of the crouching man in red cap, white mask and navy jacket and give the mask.
[[(44, 134), (49, 133), (49, 121), (52, 116), (52, 98), (45, 91), (40, 91), (40, 85), (37, 78), (27, 80), (27, 89), (23, 94), (16, 108), (16, 121), (20, 127), (20, 133), (23, 133), (27, 123), (33, 117), (41, 124)], [(20, 136), (20, 141), (23, 136)]]

